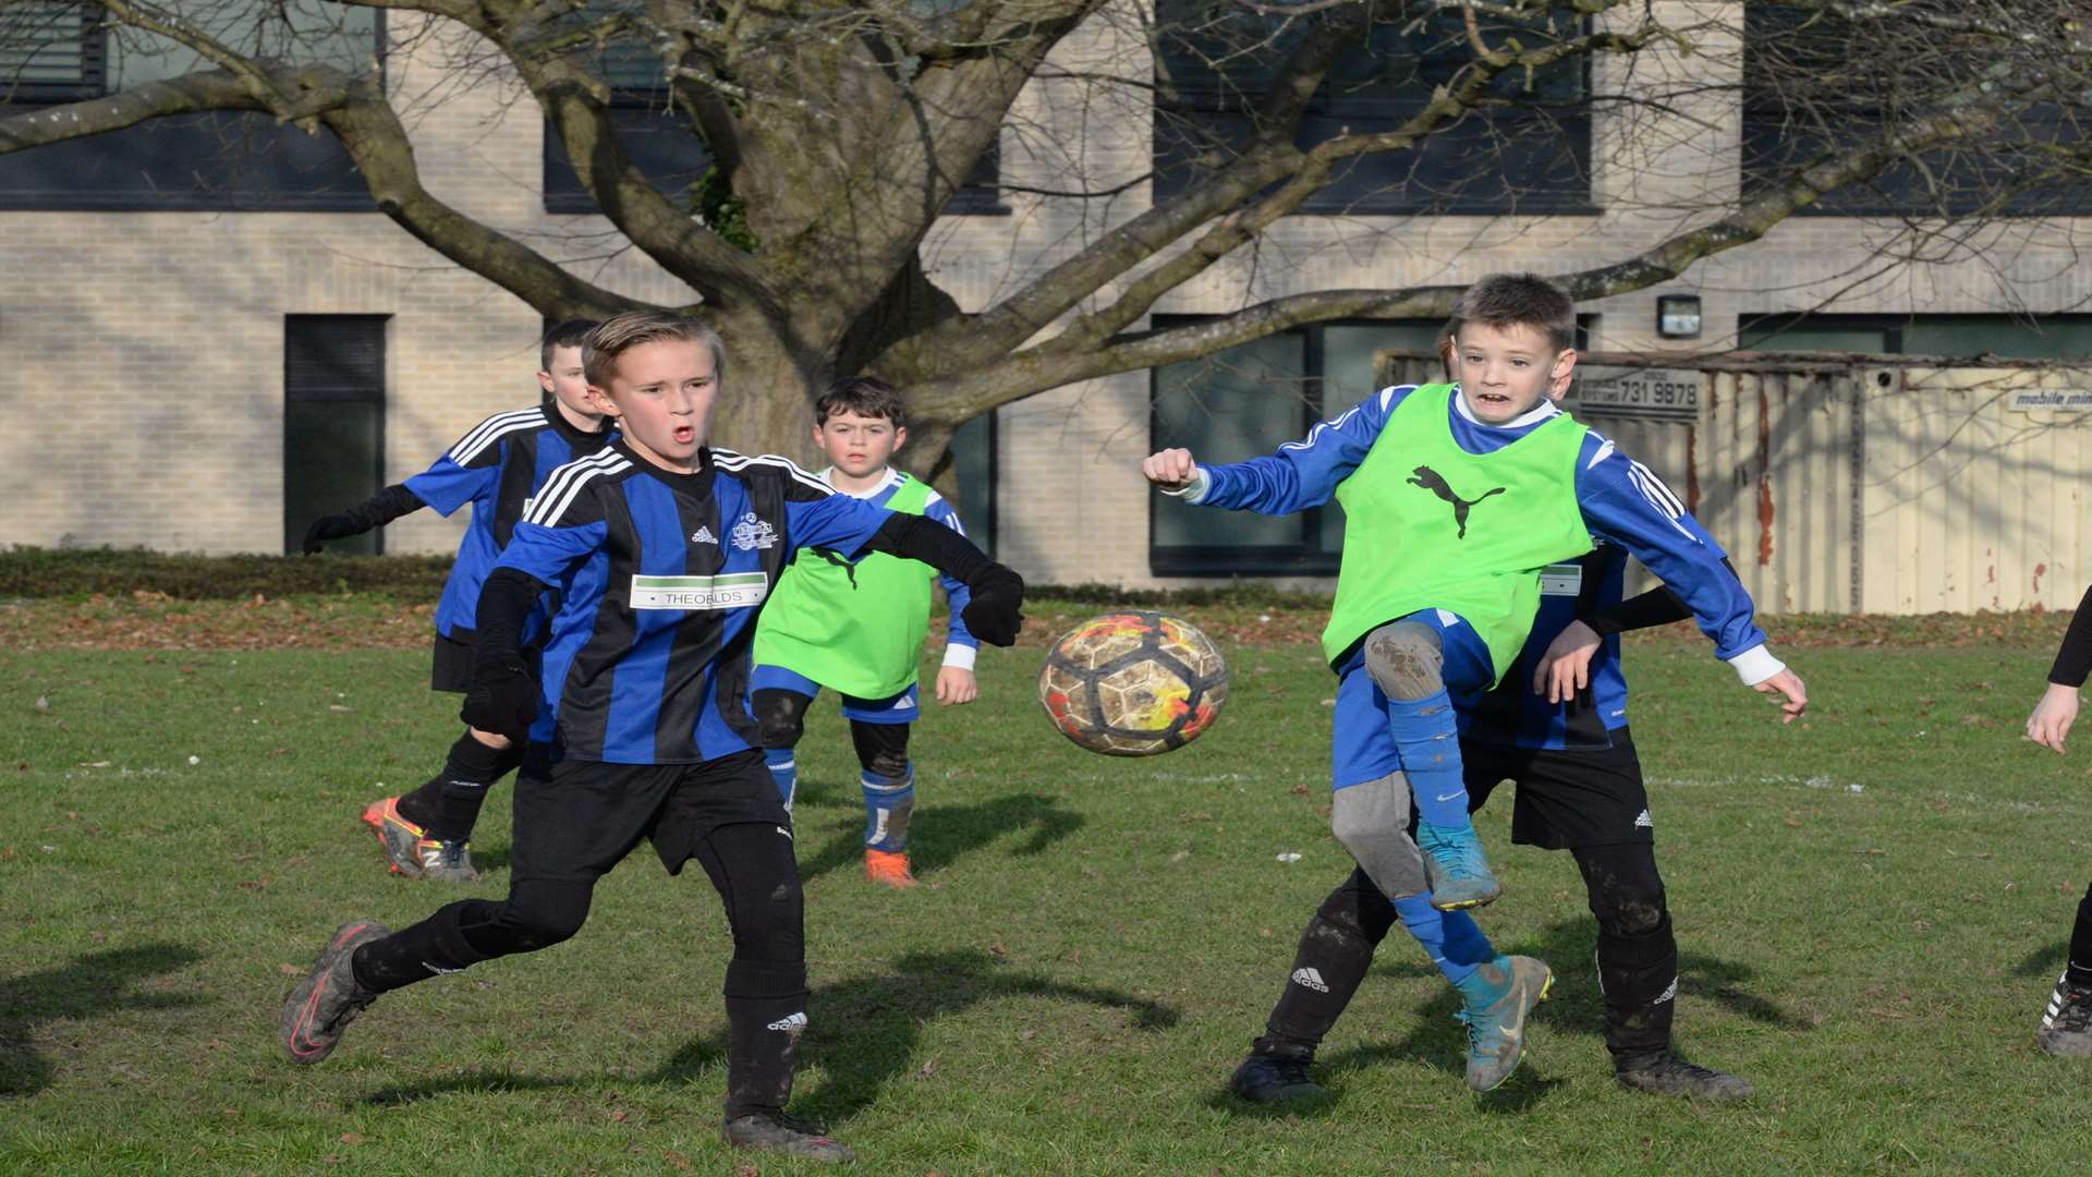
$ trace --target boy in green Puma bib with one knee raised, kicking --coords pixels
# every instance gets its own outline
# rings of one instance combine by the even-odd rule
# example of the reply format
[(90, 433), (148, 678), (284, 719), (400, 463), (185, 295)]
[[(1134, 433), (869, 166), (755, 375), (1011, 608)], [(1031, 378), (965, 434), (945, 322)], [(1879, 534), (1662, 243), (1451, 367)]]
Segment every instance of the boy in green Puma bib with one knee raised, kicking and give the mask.
[[(1575, 369), (1575, 306), (1533, 274), (1475, 283), (1454, 314), (1458, 385), (1389, 387), (1276, 457), (1142, 471), (1197, 505), (1282, 515), (1337, 496), (1349, 519), (1322, 649), (1339, 676), (1331, 823), (1404, 928), (1460, 991), (1466, 1081), (1510, 1076), (1548, 965), (1498, 955), (1462, 909), (1498, 896), (1462, 779), (1454, 695), (1510, 672), (1540, 568), (1611, 540), (1672, 584), (1718, 653), (1759, 691), (1807, 706), (1766, 649), (1751, 601), (1646, 467), (1546, 396)], [(1416, 821), (1414, 838), (1408, 834)]]

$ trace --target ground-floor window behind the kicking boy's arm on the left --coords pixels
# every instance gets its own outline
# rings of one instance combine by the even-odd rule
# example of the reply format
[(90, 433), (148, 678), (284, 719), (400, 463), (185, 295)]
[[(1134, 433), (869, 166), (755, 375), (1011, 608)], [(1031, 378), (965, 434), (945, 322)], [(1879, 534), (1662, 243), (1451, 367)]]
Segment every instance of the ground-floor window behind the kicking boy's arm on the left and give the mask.
[[(1157, 316), (1157, 327), (1176, 323)], [(1184, 446), (1209, 463), (1270, 454), (1379, 392), (1374, 352), (1429, 350), (1441, 327), (1439, 320), (1326, 323), (1155, 369), (1149, 448)], [(1151, 505), (1155, 576), (1328, 576), (1341, 551), (1343, 509), (1335, 501), (1299, 515)]]

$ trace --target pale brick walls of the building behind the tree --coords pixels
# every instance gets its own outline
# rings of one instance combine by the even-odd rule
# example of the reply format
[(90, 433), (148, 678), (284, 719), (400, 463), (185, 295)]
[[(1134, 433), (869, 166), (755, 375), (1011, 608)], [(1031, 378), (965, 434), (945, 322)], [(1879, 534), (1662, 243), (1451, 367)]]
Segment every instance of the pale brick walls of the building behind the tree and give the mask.
[[(1730, 13), (1741, 38), (1745, 6), (1715, 8)], [(412, 17), (385, 29), (374, 10), (347, 13), (337, 17), (351, 21), (335, 29), (339, 52), (356, 61), (387, 46), (387, 86), (437, 197), (548, 253), (602, 256), (584, 264), (611, 289), (688, 299), (651, 262), (605, 247), (607, 222), (590, 212), (519, 86), (446, 86), (469, 50), (458, 38), (420, 36)], [(1098, 21), (1059, 59), (1151, 75), (1149, 48), (1130, 27)], [(17, 105), (195, 67), (180, 54), (121, 52), (88, 25), (77, 38), (8, 65), (21, 80)], [(1450, 216), (1406, 199), (1402, 184), (1362, 176), (1356, 191), (1333, 193), (1335, 203), (1276, 226), (1253, 256), (1167, 295), (1155, 320), (1303, 289), (1456, 283), (1500, 268), (1571, 272), (1632, 256), (1676, 232), (1678, 209), (1745, 182), (1755, 132), (1736, 77), (1720, 75), (1736, 73), (1734, 46), (1722, 48), (1703, 44), (1690, 59), (1648, 50), (1634, 59), (1634, 77), (1611, 73), (1625, 69), (1621, 59), (1590, 63), (1575, 84), (1655, 86), (1692, 71), (1709, 86), (1690, 109), (1607, 107), (1613, 113), (1567, 119), (1550, 147), (1561, 157), (1538, 163), (1546, 176), (1519, 203), (1466, 199)], [(1082, 86), (1033, 82), (1013, 111), (1025, 134), (1004, 134), (996, 176), (954, 201), (929, 235), (927, 268), (964, 308), (1006, 295), (1096, 218), (1119, 222), (1167, 193), (1167, 174), (1136, 182), (1167, 153), (1159, 124), (1123, 103), (1079, 101)], [(659, 115), (634, 103), (634, 155), (663, 184), (686, 184), (701, 165), (678, 155), (686, 136), (655, 134), (649, 121)], [(1092, 186), (1132, 186), (1109, 209), (1008, 191), (1050, 188), (1077, 163)], [(1977, 249), (1946, 262), (1874, 266), (1895, 212), (1833, 201), (1795, 216), (1676, 283), (1584, 306), (1588, 341), (1615, 352), (1722, 350), (1778, 331), (1780, 346), (1801, 348), (2092, 352), (2092, 316), (2082, 316), (2092, 270), (2073, 264), (2092, 220), (2000, 222), (1977, 235)], [(1851, 281), (1870, 268), (1883, 272)], [(316, 509), (414, 473), (481, 417), (536, 396), (538, 314), (379, 214), (324, 134), (262, 117), (159, 119), (0, 155), (0, 274), (8, 276), (0, 367), (15, 425), (0, 442), (0, 542), (280, 551)], [(1778, 318), (1816, 310), (1845, 287), (1828, 314)], [(1665, 295), (1697, 299), (1697, 337), (1659, 335)], [(2042, 316), (2040, 327), (2015, 314)], [(1270, 450), (1370, 392), (1377, 348), (1412, 348), (1431, 331), (1429, 323), (1310, 327), (1209, 362), (1010, 404), (960, 440), (971, 475), (964, 509), (975, 530), (992, 530), (1002, 559), (1044, 582), (1326, 576), (1339, 519), (1151, 517), (1138, 459), (1151, 444), (1190, 444), (1220, 461)], [(456, 534), (458, 519), (416, 513), (383, 545), (439, 551)]]

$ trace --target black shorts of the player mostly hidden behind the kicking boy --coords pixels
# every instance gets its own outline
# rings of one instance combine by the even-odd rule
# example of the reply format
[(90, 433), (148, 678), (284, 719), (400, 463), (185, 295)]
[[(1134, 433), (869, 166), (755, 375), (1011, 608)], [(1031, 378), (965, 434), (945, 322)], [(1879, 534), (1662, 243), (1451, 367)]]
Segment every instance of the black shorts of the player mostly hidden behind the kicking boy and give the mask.
[(1559, 752), (1508, 743), (1460, 741), (1471, 808), (1481, 808), (1496, 785), (1519, 787), (1510, 810), (1510, 840), (1544, 850), (1653, 842), (1648, 790), (1628, 729), (1611, 748)]

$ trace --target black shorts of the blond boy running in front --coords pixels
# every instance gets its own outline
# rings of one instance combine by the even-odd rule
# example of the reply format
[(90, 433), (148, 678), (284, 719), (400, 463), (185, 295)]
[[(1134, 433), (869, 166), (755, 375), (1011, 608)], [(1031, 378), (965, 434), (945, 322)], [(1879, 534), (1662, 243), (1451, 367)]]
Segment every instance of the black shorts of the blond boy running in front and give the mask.
[(667, 873), (722, 825), (757, 821), (791, 838), (791, 815), (757, 750), (703, 764), (554, 760), (531, 743), (517, 773), (510, 886), (521, 880), (594, 882), (640, 838)]

